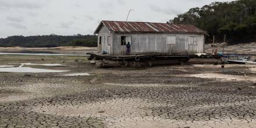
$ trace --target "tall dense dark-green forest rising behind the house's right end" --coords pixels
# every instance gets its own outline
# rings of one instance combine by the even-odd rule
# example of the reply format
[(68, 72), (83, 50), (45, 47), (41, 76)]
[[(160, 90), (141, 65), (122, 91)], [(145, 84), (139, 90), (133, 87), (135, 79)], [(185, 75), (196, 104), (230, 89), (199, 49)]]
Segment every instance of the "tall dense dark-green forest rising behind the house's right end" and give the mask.
[(256, 41), (256, 0), (214, 2), (202, 8), (191, 8), (169, 21), (170, 23), (193, 24), (208, 32), (207, 41), (228, 42)]

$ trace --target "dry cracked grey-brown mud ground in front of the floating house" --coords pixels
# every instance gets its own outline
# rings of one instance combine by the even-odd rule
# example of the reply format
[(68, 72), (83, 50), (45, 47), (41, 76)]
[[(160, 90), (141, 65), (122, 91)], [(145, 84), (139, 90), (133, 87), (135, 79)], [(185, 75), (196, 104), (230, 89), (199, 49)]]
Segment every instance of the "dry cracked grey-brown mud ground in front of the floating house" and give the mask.
[(0, 127), (256, 127), (255, 74), (221, 74), (220, 65), (87, 63), (65, 70), (90, 76), (1, 73)]

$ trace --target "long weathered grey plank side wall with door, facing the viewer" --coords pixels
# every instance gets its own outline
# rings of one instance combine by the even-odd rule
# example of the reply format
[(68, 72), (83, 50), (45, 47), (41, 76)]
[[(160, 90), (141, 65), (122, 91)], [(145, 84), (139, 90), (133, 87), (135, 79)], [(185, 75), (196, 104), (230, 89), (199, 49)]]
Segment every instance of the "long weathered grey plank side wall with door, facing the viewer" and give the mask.
[[(170, 53), (170, 54), (193, 54), (204, 52), (204, 34), (188, 33), (113, 33), (112, 55), (125, 54), (121, 50), (121, 36), (131, 36), (131, 53), (144, 52)], [(176, 45), (168, 44), (167, 37), (176, 36)]]

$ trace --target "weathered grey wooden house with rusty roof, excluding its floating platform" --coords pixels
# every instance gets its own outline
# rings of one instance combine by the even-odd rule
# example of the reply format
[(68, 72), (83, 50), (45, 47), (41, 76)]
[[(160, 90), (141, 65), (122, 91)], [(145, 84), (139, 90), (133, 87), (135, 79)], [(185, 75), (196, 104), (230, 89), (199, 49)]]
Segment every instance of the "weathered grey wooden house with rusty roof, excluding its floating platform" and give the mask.
[(130, 42), (131, 54), (197, 54), (204, 53), (204, 30), (192, 25), (102, 21), (98, 34), (98, 52), (108, 55), (126, 54)]

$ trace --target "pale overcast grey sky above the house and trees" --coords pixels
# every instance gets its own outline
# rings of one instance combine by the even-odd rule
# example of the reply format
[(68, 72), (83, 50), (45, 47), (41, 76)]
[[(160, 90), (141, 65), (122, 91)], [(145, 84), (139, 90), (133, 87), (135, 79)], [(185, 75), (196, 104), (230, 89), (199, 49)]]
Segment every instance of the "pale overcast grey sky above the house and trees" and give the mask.
[[(101, 20), (166, 23), (216, 0), (0, 0), (0, 38), (94, 34)], [(223, 0), (219, 0), (223, 2)], [(227, 1), (227, 0), (226, 0)]]

